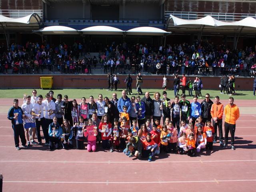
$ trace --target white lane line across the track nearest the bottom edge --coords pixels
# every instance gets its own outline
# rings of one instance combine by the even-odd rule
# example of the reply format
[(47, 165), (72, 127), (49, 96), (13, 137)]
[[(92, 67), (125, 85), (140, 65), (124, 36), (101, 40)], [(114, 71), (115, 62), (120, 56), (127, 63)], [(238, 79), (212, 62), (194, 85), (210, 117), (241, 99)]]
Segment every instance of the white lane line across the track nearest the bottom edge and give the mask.
[[(218, 180), (218, 182), (255, 182), (256, 179)], [(62, 184), (156, 184), (156, 183), (208, 183), (216, 180), (191, 180), (191, 181), (3, 181), (4, 183), (62, 183)]]

